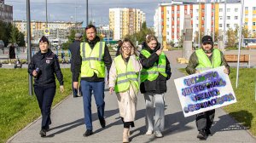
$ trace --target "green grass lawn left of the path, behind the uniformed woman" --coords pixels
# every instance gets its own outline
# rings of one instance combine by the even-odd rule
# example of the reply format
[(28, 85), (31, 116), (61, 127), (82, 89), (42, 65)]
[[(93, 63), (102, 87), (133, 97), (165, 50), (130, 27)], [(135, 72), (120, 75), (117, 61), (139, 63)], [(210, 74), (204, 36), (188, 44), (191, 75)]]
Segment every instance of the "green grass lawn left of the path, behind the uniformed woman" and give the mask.
[[(71, 93), (70, 69), (61, 69), (64, 75), (64, 93), (59, 83), (53, 106)], [(40, 116), (35, 95), (28, 94), (27, 69), (0, 69), (0, 142), (6, 142), (12, 135)]]

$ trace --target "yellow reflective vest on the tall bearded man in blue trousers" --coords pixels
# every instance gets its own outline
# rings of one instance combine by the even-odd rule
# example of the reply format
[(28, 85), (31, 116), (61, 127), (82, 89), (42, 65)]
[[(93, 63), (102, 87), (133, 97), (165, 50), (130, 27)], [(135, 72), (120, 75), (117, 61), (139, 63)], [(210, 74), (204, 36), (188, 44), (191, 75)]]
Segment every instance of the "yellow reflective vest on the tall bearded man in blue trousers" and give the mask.
[(105, 42), (98, 42), (93, 49), (89, 43), (80, 44), (80, 55), (82, 57), (81, 77), (105, 77), (105, 64), (103, 61)]

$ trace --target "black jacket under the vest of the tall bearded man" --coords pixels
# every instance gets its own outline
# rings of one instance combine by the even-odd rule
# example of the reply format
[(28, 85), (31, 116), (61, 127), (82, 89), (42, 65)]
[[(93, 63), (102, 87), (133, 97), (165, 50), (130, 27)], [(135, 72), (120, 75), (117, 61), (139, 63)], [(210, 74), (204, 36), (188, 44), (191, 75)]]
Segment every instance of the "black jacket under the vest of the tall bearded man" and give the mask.
[[(97, 37), (93, 41), (88, 41), (85, 39), (85, 43), (89, 43), (90, 48), (93, 49), (96, 43), (100, 42), (100, 37)], [(86, 52), (86, 51), (85, 51)], [(82, 57), (80, 55), (80, 50), (78, 51), (78, 56), (74, 59), (74, 66), (75, 66), (75, 71), (74, 71), (74, 82), (79, 81), (79, 73), (81, 72), (81, 65), (82, 65)], [(112, 59), (108, 51), (108, 46), (107, 44), (105, 45), (105, 50), (104, 50), (104, 55), (103, 55), (103, 61), (105, 66), (107, 67), (108, 73), (112, 64)], [(84, 69), (85, 70), (85, 69)], [(102, 77), (97, 77), (96, 73), (94, 73), (93, 77), (82, 77), (81, 80), (85, 80), (87, 82), (102, 82), (104, 81), (104, 78)]]

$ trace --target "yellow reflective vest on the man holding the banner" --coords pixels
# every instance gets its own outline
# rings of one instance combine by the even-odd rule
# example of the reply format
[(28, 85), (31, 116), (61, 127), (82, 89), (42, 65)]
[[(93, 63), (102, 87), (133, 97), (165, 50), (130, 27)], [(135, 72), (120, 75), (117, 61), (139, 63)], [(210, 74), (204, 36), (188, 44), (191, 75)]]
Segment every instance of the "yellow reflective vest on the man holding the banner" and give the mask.
[(198, 66), (196, 70), (203, 72), (221, 65), (221, 55), (218, 49), (213, 49), (212, 51), (212, 62), (209, 60), (207, 54), (203, 49), (198, 49), (195, 51), (195, 54), (198, 59)]

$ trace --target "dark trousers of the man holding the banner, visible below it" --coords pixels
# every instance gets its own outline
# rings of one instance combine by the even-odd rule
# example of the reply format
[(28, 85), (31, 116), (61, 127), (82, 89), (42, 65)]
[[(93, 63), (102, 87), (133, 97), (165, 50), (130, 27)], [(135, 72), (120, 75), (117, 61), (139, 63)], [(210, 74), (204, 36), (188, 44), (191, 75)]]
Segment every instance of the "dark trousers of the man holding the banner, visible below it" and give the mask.
[(195, 123), (198, 131), (201, 129), (211, 129), (214, 115), (215, 109), (197, 114), (195, 118)]

